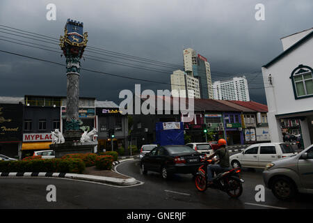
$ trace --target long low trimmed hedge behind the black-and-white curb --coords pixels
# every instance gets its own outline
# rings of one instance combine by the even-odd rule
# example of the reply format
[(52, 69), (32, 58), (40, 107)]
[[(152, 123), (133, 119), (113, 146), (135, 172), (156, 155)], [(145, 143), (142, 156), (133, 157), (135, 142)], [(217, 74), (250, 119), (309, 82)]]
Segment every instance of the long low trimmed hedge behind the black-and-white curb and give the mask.
[(54, 172), (81, 174), (85, 170), (81, 159), (36, 159), (0, 161), (0, 172)]

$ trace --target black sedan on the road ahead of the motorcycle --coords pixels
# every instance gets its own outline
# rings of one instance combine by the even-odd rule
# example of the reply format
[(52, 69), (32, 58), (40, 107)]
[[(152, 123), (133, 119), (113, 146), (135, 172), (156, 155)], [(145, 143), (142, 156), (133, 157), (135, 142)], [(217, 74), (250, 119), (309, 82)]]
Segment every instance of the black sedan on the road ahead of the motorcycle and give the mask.
[(165, 179), (172, 174), (195, 174), (201, 160), (201, 153), (188, 146), (158, 146), (141, 159), (141, 171), (156, 171)]

